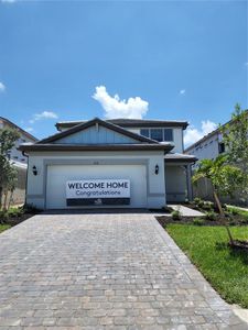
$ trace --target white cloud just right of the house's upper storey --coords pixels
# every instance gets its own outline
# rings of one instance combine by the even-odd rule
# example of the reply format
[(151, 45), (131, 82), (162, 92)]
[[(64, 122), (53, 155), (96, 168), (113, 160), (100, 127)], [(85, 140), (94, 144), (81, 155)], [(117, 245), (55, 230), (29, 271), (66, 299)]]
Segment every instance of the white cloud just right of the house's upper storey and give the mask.
[(217, 124), (215, 122), (209, 120), (206, 121), (203, 120), (201, 130), (197, 130), (194, 127), (190, 127), (186, 130), (186, 133), (184, 135), (184, 144), (191, 145), (216, 129), (217, 129)]

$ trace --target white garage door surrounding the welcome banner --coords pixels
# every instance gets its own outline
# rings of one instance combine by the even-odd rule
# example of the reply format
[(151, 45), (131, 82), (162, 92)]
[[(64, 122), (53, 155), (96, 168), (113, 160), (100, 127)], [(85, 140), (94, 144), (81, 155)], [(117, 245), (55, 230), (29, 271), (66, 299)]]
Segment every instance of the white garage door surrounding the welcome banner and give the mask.
[(67, 208), (66, 182), (84, 179), (129, 179), (128, 207), (147, 207), (147, 174), (143, 165), (50, 165), (46, 178), (46, 209)]

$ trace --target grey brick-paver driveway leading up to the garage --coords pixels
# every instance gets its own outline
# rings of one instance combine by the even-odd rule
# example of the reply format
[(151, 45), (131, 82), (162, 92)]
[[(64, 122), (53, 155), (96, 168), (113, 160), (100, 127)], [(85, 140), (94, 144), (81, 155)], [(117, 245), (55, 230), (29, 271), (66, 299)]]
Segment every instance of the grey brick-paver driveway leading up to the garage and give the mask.
[(248, 329), (149, 213), (35, 216), (0, 257), (0, 329)]

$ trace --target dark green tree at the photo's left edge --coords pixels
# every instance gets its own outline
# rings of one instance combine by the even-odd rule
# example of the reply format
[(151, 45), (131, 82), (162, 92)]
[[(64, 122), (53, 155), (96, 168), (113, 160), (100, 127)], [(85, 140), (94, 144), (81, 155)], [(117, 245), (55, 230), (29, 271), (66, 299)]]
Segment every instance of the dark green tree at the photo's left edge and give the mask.
[(2, 195), (13, 190), (15, 186), (17, 170), (9, 161), (9, 152), (14, 146), (20, 134), (17, 130), (3, 128), (0, 130), (0, 209), (2, 207)]

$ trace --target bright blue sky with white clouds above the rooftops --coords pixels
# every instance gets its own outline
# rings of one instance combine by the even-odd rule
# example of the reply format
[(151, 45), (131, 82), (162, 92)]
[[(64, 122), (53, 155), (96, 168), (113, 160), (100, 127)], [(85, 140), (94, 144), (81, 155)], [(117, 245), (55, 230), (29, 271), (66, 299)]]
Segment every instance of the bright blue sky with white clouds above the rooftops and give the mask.
[(0, 116), (37, 138), (63, 120), (185, 119), (193, 143), (248, 108), (247, 13), (247, 1), (0, 0)]

